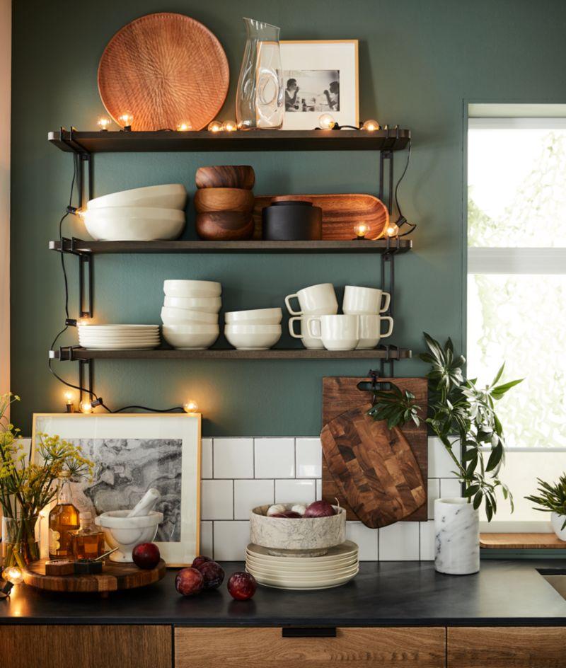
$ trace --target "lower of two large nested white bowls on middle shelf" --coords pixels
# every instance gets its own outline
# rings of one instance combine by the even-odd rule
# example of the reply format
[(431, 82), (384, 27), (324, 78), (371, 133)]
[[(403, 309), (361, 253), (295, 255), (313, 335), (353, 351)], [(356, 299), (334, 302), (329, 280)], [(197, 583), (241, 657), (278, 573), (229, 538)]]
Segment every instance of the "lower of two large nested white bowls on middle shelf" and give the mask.
[(185, 229), (185, 212), (177, 209), (105, 207), (87, 209), (83, 221), (95, 241), (176, 239)]

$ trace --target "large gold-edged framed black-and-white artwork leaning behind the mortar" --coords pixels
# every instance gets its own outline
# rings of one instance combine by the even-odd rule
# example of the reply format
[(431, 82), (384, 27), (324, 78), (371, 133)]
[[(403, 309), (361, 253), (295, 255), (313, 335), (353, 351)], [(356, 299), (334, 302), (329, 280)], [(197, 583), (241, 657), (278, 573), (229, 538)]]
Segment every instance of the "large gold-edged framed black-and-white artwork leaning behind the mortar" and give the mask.
[[(94, 479), (74, 481), (74, 503), (93, 517), (134, 507), (150, 487), (161, 492), (156, 545), (168, 566), (190, 565), (200, 553), (200, 413), (34, 413), (38, 434), (58, 434), (95, 461)], [(48, 509), (42, 511), (42, 556), (48, 551)], [(161, 535), (161, 540), (159, 539)]]

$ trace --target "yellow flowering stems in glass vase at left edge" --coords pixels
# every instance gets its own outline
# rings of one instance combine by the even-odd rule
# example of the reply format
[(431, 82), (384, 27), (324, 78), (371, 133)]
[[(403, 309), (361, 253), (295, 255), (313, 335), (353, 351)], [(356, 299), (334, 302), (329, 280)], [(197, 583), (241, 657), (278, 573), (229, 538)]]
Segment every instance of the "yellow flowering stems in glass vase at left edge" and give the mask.
[(71, 475), (92, 472), (93, 462), (81, 449), (58, 436), (38, 434), (36, 462), (23, 449), (19, 430), (8, 422), (6, 413), (20, 398), (12, 393), (0, 396), (0, 507), (2, 510), (3, 569), (23, 569), (40, 558), (35, 525), (40, 511), (57, 495), (54, 484), (64, 469)]

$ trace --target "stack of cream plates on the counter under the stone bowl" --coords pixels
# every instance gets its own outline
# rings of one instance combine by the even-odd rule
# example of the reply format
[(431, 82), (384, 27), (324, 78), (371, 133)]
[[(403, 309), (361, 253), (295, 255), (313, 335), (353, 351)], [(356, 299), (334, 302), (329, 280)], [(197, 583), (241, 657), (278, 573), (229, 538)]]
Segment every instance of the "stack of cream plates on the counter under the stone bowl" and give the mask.
[(275, 557), (250, 543), (246, 570), (260, 585), (277, 589), (330, 589), (350, 582), (359, 570), (358, 546), (338, 545), (321, 557)]

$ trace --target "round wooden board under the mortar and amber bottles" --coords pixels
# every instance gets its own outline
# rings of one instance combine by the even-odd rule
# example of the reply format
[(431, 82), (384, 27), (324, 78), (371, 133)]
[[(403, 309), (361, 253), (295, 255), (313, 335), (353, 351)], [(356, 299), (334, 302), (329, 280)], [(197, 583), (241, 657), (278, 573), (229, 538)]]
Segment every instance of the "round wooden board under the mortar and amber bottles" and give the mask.
[(145, 570), (135, 564), (106, 561), (100, 575), (45, 575), (45, 559), (28, 565), (23, 572), (26, 585), (47, 592), (117, 592), (121, 589), (146, 587), (158, 582), (166, 574), (166, 563), (160, 560), (156, 568)]

